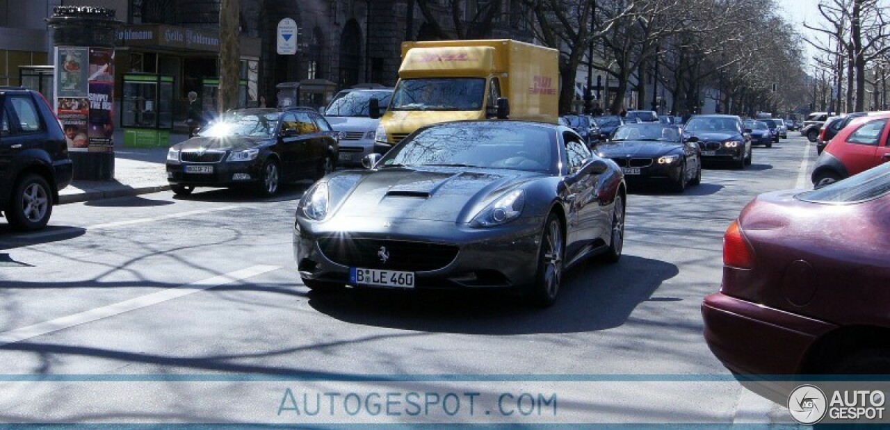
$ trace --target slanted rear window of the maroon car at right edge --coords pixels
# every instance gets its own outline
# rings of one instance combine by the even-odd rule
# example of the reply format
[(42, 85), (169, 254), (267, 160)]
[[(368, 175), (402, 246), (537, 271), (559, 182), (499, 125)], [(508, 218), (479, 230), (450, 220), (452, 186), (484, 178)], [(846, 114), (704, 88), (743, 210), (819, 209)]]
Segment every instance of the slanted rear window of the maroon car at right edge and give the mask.
[(890, 163), (795, 197), (811, 203), (849, 204), (868, 202), (884, 195), (890, 195)]

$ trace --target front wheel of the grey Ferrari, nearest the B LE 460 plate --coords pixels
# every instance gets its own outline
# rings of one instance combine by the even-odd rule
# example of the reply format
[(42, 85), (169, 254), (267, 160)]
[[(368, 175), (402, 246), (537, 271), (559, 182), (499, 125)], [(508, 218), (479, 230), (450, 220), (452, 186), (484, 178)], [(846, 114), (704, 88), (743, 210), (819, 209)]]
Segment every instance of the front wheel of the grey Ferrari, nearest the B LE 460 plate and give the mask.
[(538, 251), (538, 274), (530, 291), (532, 303), (538, 307), (549, 307), (556, 301), (562, 282), (562, 256), (565, 246), (562, 241), (562, 225), (559, 217), (551, 213), (544, 224), (541, 247)]

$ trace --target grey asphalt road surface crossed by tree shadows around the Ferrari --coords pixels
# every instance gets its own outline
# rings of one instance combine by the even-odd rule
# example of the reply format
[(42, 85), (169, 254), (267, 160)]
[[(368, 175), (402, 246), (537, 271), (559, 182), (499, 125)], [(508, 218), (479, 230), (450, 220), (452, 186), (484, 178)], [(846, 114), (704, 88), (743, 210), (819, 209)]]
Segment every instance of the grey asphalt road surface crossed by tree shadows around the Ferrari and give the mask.
[(560, 394), (562, 415), (537, 422), (789, 422), (710, 353), (699, 306), (745, 203), (810, 186), (815, 148), (790, 134), (683, 195), (632, 189), (619, 264), (576, 268), (545, 310), (493, 294), (310, 293), (290, 245), (305, 185), (68, 204), (33, 235), (0, 224), (0, 421), (457, 419), (282, 413), (295, 378), (303, 392)]

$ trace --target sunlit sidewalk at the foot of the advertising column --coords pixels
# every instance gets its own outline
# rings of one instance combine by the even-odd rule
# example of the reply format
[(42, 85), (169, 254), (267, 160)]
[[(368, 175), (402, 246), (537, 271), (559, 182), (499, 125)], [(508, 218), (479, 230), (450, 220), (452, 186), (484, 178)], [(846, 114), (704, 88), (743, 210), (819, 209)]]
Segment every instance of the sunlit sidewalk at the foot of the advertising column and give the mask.
[[(170, 134), (170, 144), (189, 139)], [(170, 189), (164, 163), (166, 147), (124, 147), (124, 132), (115, 131), (114, 180), (75, 180), (59, 192), (59, 203), (77, 203), (102, 198), (157, 193)]]

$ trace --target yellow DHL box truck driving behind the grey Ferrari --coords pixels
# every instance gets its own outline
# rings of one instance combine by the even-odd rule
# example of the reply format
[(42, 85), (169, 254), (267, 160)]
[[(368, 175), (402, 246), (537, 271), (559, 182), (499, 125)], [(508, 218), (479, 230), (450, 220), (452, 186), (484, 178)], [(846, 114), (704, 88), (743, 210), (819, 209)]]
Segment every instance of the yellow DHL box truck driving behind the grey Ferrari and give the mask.
[(552, 48), (508, 39), (405, 42), (401, 59), (375, 133), (382, 147), (431, 123), (559, 120), (559, 52)]

